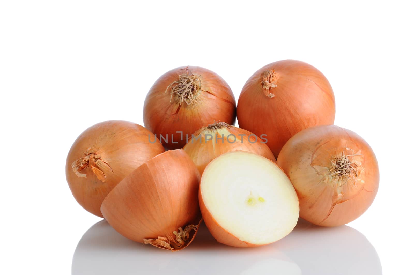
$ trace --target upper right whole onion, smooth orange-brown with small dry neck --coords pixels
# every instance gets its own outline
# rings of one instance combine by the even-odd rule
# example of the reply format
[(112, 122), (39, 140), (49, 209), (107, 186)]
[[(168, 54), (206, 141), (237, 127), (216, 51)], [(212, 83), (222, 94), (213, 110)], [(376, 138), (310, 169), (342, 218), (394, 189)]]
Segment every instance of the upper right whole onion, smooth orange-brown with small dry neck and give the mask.
[(244, 85), (237, 105), (241, 128), (267, 134), (267, 146), (277, 158), (296, 133), (315, 125), (333, 124), (335, 97), (326, 77), (298, 60), (270, 63)]

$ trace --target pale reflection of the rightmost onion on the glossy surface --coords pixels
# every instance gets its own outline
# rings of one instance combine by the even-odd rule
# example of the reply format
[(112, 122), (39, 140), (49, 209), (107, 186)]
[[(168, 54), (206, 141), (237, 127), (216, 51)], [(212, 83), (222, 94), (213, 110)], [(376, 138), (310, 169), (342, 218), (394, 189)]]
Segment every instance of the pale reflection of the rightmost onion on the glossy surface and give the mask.
[(277, 244), (302, 274), (382, 274), (375, 248), (361, 232), (346, 225), (319, 227), (299, 219), (292, 233)]

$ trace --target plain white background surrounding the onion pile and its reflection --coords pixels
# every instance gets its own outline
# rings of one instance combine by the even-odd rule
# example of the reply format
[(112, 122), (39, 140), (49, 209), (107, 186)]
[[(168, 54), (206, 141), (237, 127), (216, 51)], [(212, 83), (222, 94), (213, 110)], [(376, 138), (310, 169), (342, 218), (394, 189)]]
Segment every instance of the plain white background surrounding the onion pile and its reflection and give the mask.
[(213, 70), (237, 99), (253, 72), (282, 59), (322, 71), (335, 124), (373, 148), (378, 195), (348, 226), (384, 274), (411, 272), (413, 24), (399, 1), (2, 1), (1, 273), (70, 274), (79, 239), (101, 220), (65, 179), (83, 130), (109, 119), (142, 125), (147, 91), (172, 68)]

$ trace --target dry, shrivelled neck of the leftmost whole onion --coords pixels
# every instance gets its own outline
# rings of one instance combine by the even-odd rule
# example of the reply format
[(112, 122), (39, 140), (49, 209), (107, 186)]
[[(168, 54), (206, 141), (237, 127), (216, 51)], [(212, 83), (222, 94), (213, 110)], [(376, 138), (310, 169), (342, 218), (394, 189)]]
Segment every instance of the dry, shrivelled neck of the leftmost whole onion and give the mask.
[(100, 181), (106, 182), (106, 175), (99, 166), (107, 166), (111, 169), (111, 166), (102, 160), (101, 155), (98, 154), (98, 150), (92, 147), (87, 148), (82, 157), (72, 162), (73, 172), (78, 177), (86, 178), (86, 174), (82, 174), (81, 171), (89, 167)]

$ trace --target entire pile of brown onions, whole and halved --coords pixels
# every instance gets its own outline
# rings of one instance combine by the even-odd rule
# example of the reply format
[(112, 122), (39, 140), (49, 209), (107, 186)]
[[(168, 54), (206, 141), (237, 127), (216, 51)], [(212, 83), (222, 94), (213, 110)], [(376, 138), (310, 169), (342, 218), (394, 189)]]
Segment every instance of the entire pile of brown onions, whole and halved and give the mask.
[(149, 90), (147, 128), (91, 126), (67, 155), (66, 178), (84, 209), (131, 240), (178, 251), (203, 218), (222, 244), (261, 246), (289, 234), (299, 216), (337, 226), (373, 202), (375, 154), (334, 119), (332, 87), (307, 63), (262, 67), (237, 108), (219, 75), (179, 67)]

